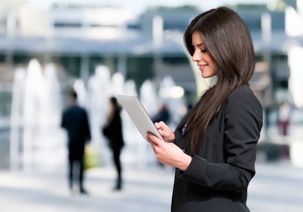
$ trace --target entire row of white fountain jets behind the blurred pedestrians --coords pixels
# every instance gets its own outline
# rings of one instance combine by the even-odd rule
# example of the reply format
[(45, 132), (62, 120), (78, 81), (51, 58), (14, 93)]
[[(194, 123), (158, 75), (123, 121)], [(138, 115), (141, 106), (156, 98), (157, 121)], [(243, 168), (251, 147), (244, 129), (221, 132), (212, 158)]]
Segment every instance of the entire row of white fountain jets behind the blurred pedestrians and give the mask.
[[(163, 79), (160, 87), (174, 86), (172, 78), (167, 77)], [(78, 94), (79, 105), (85, 107), (89, 114), (91, 142), (100, 152), (102, 164), (107, 166), (112, 163), (111, 153), (101, 128), (106, 121), (108, 99), (117, 94), (138, 96), (135, 82), (124, 82), (121, 73), (110, 76), (108, 68), (101, 65), (96, 67), (94, 75), (89, 78), (87, 89), (81, 79), (76, 79), (73, 87)], [(151, 117), (163, 102), (166, 102), (171, 110), (182, 103), (180, 99), (163, 96), (159, 98), (151, 80), (146, 80), (139, 91), (140, 101)], [(39, 62), (33, 59), (28, 65), (27, 73), (24, 69), (15, 71), (11, 122), (12, 168), (18, 167), (21, 158), (18, 152), (20, 126), (23, 126), (22, 161), (25, 171), (66, 165), (67, 135), (60, 127), (61, 97), (62, 91), (53, 64), (46, 65), (43, 70)], [(122, 110), (121, 118), (126, 143), (121, 153), (123, 163), (147, 167), (149, 163), (155, 162), (150, 144), (139, 134), (125, 110)]]

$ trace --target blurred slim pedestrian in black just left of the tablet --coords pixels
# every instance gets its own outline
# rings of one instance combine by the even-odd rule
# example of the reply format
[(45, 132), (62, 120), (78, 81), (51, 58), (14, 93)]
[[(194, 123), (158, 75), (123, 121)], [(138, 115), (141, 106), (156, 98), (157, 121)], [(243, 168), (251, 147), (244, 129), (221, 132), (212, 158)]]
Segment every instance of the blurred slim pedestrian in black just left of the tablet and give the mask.
[(108, 138), (108, 146), (113, 152), (113, 160), (117, 170), (117, 181), (115, 190), (121, 190), (122, 186), (122, 167), (120, 161), (121, 149), (124, 145), (122, 135), (122, 123), (120, 112), (122, 107), (118, 104), (116, 97), (109, 99), (109, 112), (107, 114), (106, 125), (103, 127), (103, 134)]

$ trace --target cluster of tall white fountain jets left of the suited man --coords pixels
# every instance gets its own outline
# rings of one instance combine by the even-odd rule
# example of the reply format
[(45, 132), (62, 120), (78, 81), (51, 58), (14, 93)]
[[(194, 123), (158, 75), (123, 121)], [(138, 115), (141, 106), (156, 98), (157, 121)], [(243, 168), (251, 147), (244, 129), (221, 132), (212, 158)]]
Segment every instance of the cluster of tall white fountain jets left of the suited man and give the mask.
[(16, 69), (11, 114), (12, 169), (18, 168), (21, 158), (25, 171), (62, 163), (66, 152), (61, 142), (60, 116), (61, 89), (55, 66), (48, 64), (43, 72), (33, 59), (27, 70)]

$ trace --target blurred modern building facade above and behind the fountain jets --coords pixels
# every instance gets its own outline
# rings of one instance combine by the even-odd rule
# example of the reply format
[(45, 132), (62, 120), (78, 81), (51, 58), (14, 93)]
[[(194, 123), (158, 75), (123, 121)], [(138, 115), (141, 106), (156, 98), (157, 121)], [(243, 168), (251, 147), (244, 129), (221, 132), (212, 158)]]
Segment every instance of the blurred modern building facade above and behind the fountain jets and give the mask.
[[(45, 10), (31, 7), (29, 1), (1, 4), (2, 90), (9, 91), (16, 67), (26, 67), (36, 58), (41, 64), (57, 64), (63, 82), (66, 77), (80, 77), (87, 82), (96, 66), (103, 64), (112, 74), (120, 72), (125, 79), (133, 79), (137, 87), (146, 79), (170, 75), (189, 101), (197, 95), (182, 34), (189, 21), (203, 11), (203, 5), (149, 8), (136, 14), (103, 5), (54, 4)], [(229, 6), (251, 31), (257, 60), (251, 84), (263, 106), (277, 101), (278, 90), (288, 91), (290, 87), (294, 96), (293, 82), (289, 81), (293, 66), (289, 64), (289, 52), (293, 47), (301, 52), (303, 45), (302, 0), (277, 0), (272, 7)], [(4, 98), (3, 93), (1, 96)], [(297, 104), (301, 106), (300, 101)]]

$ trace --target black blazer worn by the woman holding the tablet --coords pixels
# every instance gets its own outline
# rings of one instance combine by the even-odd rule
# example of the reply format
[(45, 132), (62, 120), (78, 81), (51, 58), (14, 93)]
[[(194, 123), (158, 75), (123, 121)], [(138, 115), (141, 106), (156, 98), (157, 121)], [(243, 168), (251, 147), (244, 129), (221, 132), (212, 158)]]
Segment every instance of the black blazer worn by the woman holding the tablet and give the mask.
[[(196, 109), (176, 128), (175, 143), (182, 149), (182, 127)], [(233, 91), (208, 126), (199, 154), (185, 172), (176, 168), (171, 211), (249, 212), (247, 186), (255, 175), (262, 123), (262, 106), (249, 84)]]

